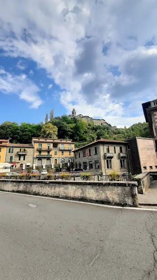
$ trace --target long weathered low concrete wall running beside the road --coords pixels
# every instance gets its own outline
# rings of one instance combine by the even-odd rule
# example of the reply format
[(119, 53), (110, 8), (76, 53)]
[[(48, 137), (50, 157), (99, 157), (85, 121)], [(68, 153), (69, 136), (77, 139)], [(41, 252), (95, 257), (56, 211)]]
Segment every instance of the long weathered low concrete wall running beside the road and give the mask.
[(0, 190), (111, 204), (127, 204), (138, 207), (136, 182), (71, 182), (2, 179), (0, 180)]

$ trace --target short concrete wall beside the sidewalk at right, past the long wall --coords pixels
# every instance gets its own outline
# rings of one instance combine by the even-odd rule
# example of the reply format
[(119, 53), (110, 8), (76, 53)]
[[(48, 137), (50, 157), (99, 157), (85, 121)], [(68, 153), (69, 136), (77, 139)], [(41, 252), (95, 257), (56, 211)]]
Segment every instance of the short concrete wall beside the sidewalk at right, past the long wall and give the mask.
[(138, 193), (145, 193), (151, 185), (150, 172), (144, 172), (133, 178), (133, 181), (136, 181), (138, 186)]

